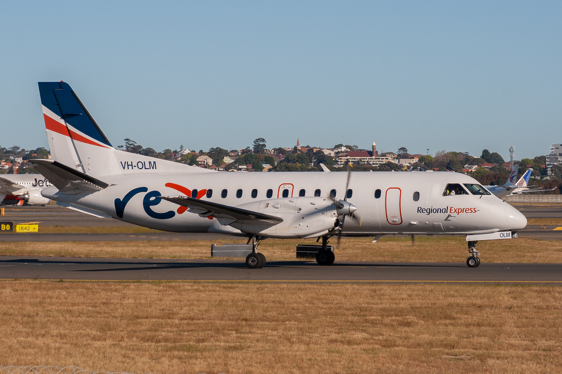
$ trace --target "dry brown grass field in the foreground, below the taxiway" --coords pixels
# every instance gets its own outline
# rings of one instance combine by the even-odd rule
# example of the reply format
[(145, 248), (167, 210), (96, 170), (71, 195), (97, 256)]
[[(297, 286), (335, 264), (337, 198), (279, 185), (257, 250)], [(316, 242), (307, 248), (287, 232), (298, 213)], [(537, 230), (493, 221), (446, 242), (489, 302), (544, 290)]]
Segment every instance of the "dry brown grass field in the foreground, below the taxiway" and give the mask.
[(559, 373), (562, 288), (3, 281), (0, 364)]

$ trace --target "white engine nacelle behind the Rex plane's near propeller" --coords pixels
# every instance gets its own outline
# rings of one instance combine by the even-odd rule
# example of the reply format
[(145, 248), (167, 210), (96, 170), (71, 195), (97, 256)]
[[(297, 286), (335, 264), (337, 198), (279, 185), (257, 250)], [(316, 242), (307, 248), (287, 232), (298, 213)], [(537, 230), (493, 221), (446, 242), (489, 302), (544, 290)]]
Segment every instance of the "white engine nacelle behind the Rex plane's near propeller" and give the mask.
[(272, 198), (238, 207), (283, 218), (283, 222), (278, 224), (261, 224), (254, 221), (230, 224), (243, 232), (269, 238), (319, 237), (332, 230), (338, 218), (336, 203), (325, 197)]

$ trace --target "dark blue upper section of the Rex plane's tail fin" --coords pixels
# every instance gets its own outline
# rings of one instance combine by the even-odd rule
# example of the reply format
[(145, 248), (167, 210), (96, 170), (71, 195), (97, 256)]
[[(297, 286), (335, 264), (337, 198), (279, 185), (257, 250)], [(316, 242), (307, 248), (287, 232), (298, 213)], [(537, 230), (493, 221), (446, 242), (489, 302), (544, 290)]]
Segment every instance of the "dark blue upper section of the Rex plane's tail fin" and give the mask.
[(65, 119), (70, 126), (97, 141), (111, 146), (107, 137), (99, 129), (96, 121), (69, 84), (65, 82), (39, 82), (41, 103), (53, 113)]

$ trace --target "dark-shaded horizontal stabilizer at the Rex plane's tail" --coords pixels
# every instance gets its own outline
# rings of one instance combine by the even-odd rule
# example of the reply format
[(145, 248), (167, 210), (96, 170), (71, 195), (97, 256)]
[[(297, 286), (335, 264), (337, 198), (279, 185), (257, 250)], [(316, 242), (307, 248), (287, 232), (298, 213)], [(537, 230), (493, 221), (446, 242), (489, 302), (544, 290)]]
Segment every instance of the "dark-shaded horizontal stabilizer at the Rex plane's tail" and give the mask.
[(35, 164), (35, 169), (49, 179), (53, 186), (60, 192), (100, 191), (109, 184), (99, 179), (88, 176), (76, 169), (67, 167), (55, 160), (30, 160)]

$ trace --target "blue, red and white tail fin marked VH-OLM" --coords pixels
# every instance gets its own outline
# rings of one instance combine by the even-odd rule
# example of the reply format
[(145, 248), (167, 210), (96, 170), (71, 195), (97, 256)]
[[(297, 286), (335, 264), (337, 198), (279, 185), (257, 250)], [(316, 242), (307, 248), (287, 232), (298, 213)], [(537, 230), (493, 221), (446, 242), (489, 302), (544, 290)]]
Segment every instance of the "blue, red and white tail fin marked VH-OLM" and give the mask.
[(207, 172), (115, 149), (69, 84), (39, 82), (51, 157), (90, 176), (134, 172)]

